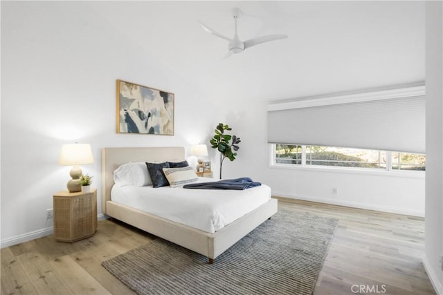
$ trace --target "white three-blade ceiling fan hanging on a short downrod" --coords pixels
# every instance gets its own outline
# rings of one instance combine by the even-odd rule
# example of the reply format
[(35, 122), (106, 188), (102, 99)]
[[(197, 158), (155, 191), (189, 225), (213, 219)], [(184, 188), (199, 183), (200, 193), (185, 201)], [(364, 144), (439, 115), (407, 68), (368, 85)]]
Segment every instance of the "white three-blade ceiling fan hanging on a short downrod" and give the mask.
[(213, 30), (212, 28), (209, 28), (208, 26), (206, 26), (204, 23), (202, 23), (201, 21), (199, 21), (199, 23), (201, 24), (201, 26), (204, 28), (204, 30), (206, 30), (206, 32), (210, 32), (211, 34), (222, 38), (222, 39), (226, 39), (229, 41), (228, 44), (228, 49), (229, 49), (229, 53), (228, 55), (230, 55), (231, 53), (241, 53), (243, 50), (250, 48), (252, 46), (255, 46), (257, 44), (261, 44), (264, 42), (269, 42), (269, 41), (274, 41), (274, 40), (278, 40), (278, 39), (284, 39), (287, 38), (287, 35), (266, 35), (266, 36), (261, 36), (261, 37), (256, 37), (253, 39), (249, 39), (246, 41), (240, 41), (238, 35), (237, 35), (237, 19), (240, 17), (241, 15), (241, 10), (239, 10), (239, 8), (234, 8), (233, 9), (233, 17), (234, 17), (234, 23), (235, 23), (235, 34), (234, 37), (228, 38), (224, 35), (221, 35), (219, 32), (216, 32), (215, 30)]

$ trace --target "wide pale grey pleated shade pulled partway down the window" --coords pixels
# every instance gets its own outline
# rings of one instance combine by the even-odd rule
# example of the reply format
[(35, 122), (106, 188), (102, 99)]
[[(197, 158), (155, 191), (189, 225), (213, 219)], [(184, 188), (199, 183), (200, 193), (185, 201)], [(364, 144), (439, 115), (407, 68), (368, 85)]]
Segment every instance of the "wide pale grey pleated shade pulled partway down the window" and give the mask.
[(268, 111), (268, 142), (425, 153), (425, 98)]

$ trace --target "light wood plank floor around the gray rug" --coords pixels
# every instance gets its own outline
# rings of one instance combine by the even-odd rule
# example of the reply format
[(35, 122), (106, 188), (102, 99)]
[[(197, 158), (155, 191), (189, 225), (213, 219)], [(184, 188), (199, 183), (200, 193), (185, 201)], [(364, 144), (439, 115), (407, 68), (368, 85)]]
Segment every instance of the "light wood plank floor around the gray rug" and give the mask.
[[(299, 200), (280, 199), (279, 208), (339, 220), (315, 295), (435, 294), (422, 265), (423, 218)], [(73, 244), (46, 236), (3, 248), (1, 294), (134, 294), (100, 263), (154, 238), (102, 220)]]

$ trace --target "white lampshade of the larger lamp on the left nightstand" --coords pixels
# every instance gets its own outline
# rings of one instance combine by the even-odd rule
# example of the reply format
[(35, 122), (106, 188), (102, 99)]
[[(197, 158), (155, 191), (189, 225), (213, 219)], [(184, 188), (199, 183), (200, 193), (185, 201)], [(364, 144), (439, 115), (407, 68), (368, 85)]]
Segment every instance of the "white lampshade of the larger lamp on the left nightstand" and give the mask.
[(93, 162), (91, 144), (63, 144), (58, 160), (58, 164), (66, 166), (92, 164)]

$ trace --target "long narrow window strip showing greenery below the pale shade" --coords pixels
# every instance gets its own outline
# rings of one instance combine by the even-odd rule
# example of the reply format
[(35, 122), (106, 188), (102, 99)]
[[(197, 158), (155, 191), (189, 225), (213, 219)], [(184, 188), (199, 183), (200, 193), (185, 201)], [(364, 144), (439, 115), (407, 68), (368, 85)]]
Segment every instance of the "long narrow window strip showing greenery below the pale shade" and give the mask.
[(336, 146), (273, 144), (273, 164), (424, 171), (426, 155)]

